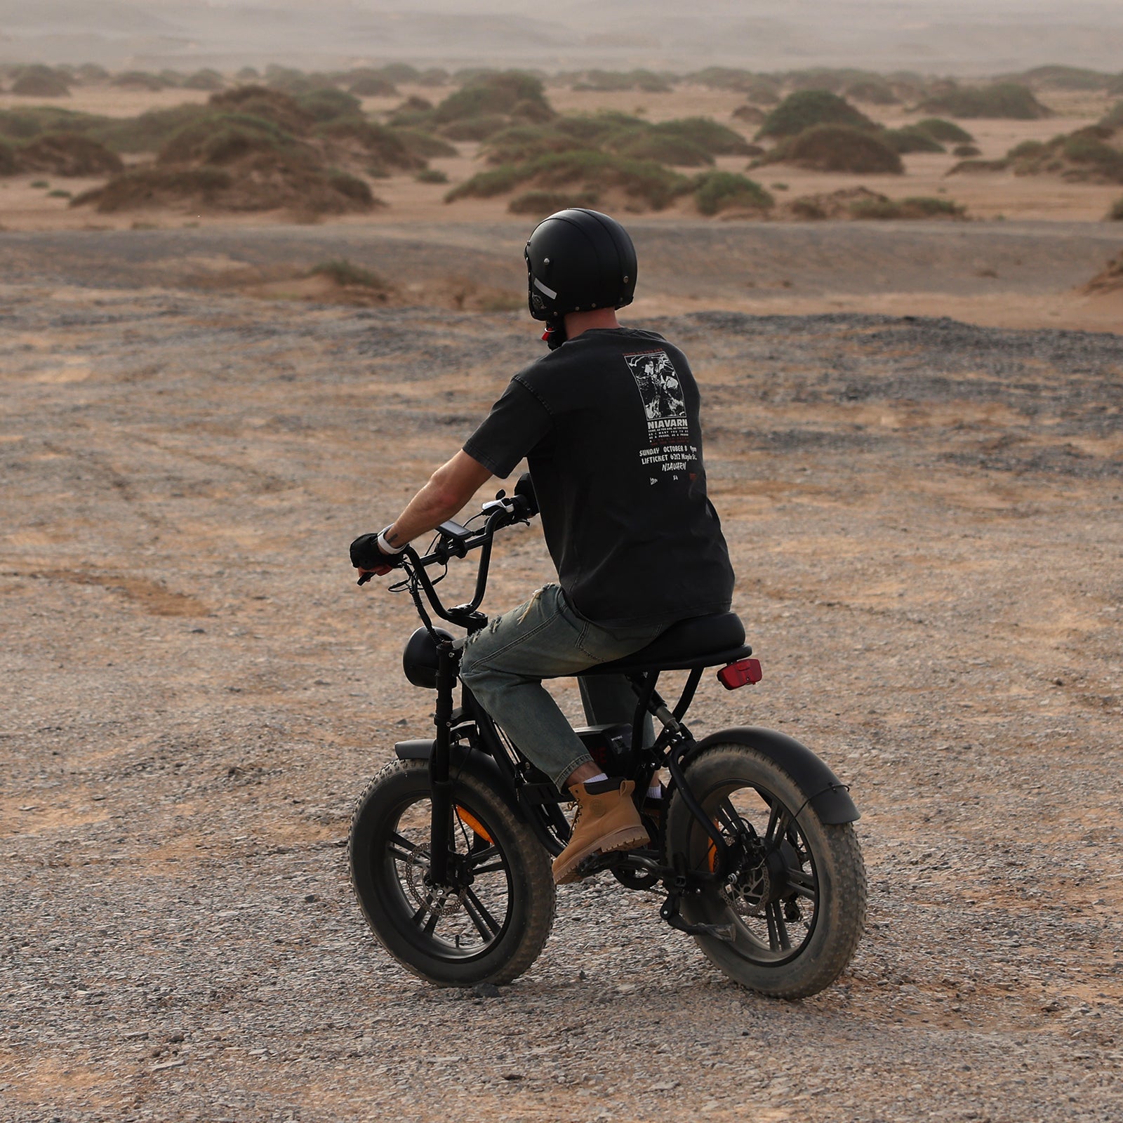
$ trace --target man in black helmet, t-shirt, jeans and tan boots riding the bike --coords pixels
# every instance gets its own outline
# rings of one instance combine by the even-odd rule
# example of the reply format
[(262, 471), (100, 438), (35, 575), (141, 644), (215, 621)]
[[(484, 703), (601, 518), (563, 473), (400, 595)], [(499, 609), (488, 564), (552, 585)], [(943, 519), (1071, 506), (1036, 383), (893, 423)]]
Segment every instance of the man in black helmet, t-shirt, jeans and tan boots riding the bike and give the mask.
[[(526, 457), (558, 584), (469, 637), (460, 678), (500, 728), (578, 805), (554, 878), (593, 853), (648, 840), (633, 782), (606, 776), (541, 685), (646, 647), (679, 620), (730, 608), (733, 570), (706, 497), (699, 391), (685, 355), (623, 328), (636, 249), (608, 214), (559, 211), (524, 250), (530, 314), (550, 351), (511, 380), (491, 413), (377, 535), (351, 544), (362, 575), (385, 574), (414, 538)], [(622, 676), (581, 679), (591, 722), (631, 721)]]

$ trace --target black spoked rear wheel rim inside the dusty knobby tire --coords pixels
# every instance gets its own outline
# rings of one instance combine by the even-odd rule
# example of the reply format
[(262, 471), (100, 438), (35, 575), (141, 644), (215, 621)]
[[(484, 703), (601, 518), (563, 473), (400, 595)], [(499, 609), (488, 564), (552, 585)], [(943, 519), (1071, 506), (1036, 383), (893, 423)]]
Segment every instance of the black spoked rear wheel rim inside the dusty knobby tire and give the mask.
[[(821, 886), (802, 828), (775, 793), (759, 785), (723, 785), (702, 801), (732, 851), (731, 880), (705, 894), (713, 922), (732, 923), (739, 955), (782, 967), (807, 947), (819, 919)], [(695, 868), (714, 869), (715, 851), (694, 823)]]

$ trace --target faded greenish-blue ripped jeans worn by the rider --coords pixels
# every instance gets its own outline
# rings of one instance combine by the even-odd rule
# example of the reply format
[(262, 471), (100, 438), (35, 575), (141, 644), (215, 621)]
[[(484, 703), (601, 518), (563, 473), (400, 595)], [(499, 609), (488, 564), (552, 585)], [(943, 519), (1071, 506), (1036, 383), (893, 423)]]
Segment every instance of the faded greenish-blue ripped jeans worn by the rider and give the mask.
[[(574, 770), (593, 758), (542, 679), (623, 658), (666, 627), (604, 628), (578, 615), (558, 585), (546, 585), (466, 640), (460, 678), (527, 759), (564, 792)], [(631, 722), (636, 694), (623, 675), (582, 678), (579, 686), (591, 724)]]

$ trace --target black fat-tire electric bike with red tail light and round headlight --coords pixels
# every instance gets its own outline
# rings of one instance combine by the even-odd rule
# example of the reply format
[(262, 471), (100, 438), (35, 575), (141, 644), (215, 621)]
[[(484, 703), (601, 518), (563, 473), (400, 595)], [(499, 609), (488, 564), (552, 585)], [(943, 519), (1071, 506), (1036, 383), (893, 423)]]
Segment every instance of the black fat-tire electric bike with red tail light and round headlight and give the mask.
[[(407, 678), (436, 691), (435, 736), (400, 741), (358, 798), (350, 876), (378, 942), (403, 967), (440, 986), (509, 983), (538, 958), (555, 915), (551, 858), (569, 838), (569, 802), (460, 683), (459, 646), (432, 617), (473, 634), (495, 533), (538, 508), (529, 476), (485, 503), (476, 529), (438, 528), (430, 553), (407, 548), (403, 576), (421, 618), (405, 646)], [(447, 608), (436, 585), (449, 563), (480, 550), (475, 592)], [(431, 568), (442, 572), (430, 576)], [(360, 582), (362, 583), (362, 582)], [(431, 614), (430, 614), (431, 613)], [(757, 682), (760, 666), (731, 612), (681, 621), (652, 643), (586, 675), (627, 676), (631, 724), (576, 729), (613, 776), (636, 782), (650, 842), (593, 855), (583, 876), (608, 870), (630, 889), (664, 894), (659, 914), (693, 937), (729, 978), (760, 994), (801, 998), (829, 986), (861, 937), (866, 874), (846, 785), (784, 733), (737, 727), (696, 740), (684, 723), (706, 668), (728, 688)], [(685, 672), (674, 705), (660, 675)], [(660, 731), (645, 743), (647, 718)], [(654, 727), (652, 727), (654, 728)], [(649, 738), (648, 738), (649, 739)], [(661, 810), (643, 803), (669, 772)]]

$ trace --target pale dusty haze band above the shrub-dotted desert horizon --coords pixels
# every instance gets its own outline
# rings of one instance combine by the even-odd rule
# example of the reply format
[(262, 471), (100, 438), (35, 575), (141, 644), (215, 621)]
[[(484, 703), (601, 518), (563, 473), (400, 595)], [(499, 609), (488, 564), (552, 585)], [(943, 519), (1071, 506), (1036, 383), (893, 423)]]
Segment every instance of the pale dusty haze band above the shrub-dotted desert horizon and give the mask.
[(0, 0), (0, 62), (223, 69), (407, 60), (547, 70), (712, 64), (995, 74), (1117, 69), (1123, 6), (1102, 0)]

